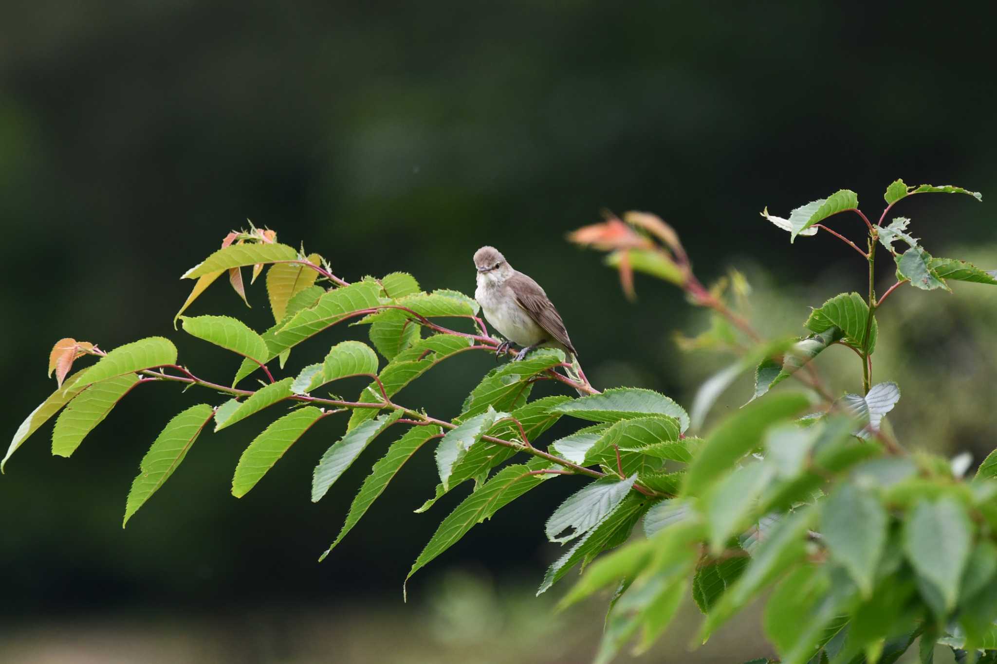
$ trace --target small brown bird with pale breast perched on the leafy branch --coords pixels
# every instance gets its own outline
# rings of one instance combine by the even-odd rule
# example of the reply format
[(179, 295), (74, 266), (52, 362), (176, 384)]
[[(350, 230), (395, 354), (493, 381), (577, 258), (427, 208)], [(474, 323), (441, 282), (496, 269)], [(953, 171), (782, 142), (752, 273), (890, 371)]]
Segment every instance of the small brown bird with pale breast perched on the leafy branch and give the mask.
[(486, 246), (475, 252), (475, 268), (478, 270), (475, 300), (482, 306), (488, 322), (507, 339), (498, 345), (497, 356), (513, 342), (522, 349), (512, 361), (522, 359), (539, 345), (570, 353), (569, 362), (578, 356), (560, 314), (539, 284), (513, 270), (495, 247)]

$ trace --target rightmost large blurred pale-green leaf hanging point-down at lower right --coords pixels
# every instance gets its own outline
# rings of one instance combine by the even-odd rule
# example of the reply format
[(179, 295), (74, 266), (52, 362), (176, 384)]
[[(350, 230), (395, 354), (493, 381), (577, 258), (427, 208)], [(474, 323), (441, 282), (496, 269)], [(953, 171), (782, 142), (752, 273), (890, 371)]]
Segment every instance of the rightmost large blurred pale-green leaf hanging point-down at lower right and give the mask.
[(969, 560), (973, 527), (961, 505), (943, 497), (922, 501), (903, 530), (903, 551), (920, 578), (936, 590), (946, 611), (955, 606)]

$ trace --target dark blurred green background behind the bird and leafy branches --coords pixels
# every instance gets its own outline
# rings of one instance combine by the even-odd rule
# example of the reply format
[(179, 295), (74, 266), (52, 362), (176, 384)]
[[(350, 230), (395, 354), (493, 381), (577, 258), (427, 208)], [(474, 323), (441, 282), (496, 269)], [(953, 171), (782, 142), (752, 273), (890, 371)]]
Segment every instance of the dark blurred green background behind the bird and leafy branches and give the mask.
[[(174, 333), (170, 319), (190, 288), (179, 275), (247, 218), (347, 279), (405, 270), (427, 289), (472, 293), (471, 256), (494, 244), (545, 287), (596, 386), (643, 385), (689, 404), (724, 358), (682, 354), (672, 332), (705, 318), (646, 279), (627, 303), (600, 256), (564, 234), (603, 207), (653, 211), (704, 281), (731, 266), (749, 275), (760, 327), (801, 332), (807, 307), (863, 288), (862, 264), (823, 235), (791, 247), (758, 212), (785, 215), (847, 187), (871, 213), (896, 177), (991, 200), (995, 13), (982, 2), (945, 13), (924, 2), (6, 2), (3, 430), (13, 435), (54, 388), (43, 371), (62, 336), (107, 348), (166, 334), (198, 373), (231, 375), (235, 359)], [(997, 267), (991, 203), (902, 206), (935, 254)], [(997, 292), (907, 291), (880, 317), (876, 357), (876, 378), (903, 388), (894, 426), (910, 446), (969, 449), (978, 461), (997, 442)], [(263, 329), (260, 282), (249, 298), (245, 310), (219, 281), (191, 311)], [(313, 339), (288, 370), (365, 333)], [(835, 391), (855, 389), (857, 367), (835, 374), (836, 352), (847, 351), (822, 366)], [(492, 365), (464, 357), (400, 398), (453, 416)], [(746, 390), (735, 385), (714, 417)], [(0, 660), (575, 662), (592, 652), (598, 602), (557, 616), (555, 597), (532, 598), (559, 554), (542, 524), (580, 485), (571, 478), (475, 529), (413, 579), (408, 604), (401, 581), (464, 492), (412, 515), (435, 485), (431, 455), (417, 458), (316, 563), (380, 452), (311, 504), (311, 468), (342, 421), (302, 439), (241, 501), (231, 472), (262, 422), (202, 437), (123, 531), (145, 450), (205, 397), (151, 385), (71, 460), (48, 455), (51, 426), (11, 460), (0, 479)], [(686, 652), (686, 609), (645, 661), (766, 654), (750, 616)]]

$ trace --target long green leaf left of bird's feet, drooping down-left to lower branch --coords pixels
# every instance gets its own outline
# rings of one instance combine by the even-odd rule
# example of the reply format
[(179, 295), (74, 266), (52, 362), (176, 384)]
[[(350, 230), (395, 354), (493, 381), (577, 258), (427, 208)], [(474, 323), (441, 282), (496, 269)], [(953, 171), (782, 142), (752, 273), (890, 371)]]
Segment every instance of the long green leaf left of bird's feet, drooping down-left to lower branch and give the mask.
[[(413, 343), (405, 352), (390, 361), (378, 377), (388, 396), (394, 396), (400, 389), (426, 373), (444, 359), (474, 346), (474, 339), (456, 334), (434, 334)], [(377, 382), (372, 382), (360, 393), (363, 403), (381, 403), (384, 397)], [(350, 415), (347, 431), (377, 415), (374, 408), (357, 408)]]

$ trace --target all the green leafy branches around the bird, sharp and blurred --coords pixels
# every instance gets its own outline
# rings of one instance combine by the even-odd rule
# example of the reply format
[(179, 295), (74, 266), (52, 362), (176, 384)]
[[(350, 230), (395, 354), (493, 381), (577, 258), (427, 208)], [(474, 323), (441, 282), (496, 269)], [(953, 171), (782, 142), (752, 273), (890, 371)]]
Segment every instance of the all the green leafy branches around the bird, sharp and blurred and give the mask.
[[(693, 305), (712, 310), (711, 330), (683, 345), (734, 351), (738, 357), (703, 385), (692, 416), (652, 390), (600, 392), (583, 372), (568, 371), (556, 349), (537, 349), (489, 371), (453, 420), (402, 405), (395, 401), (399, 390), (438, 363), (457, 361), (466, 351), (496, 352), (500, 339), (489, 334), (477, 303), (455, 291), (423, 292), (404, 273), (351, 284), (334, 275), (320, 255), (277, 243), (272, 231), (232, 232), (219, 250), (183, 275), (196, 282), (175, 318), (183, 332), (242, 357), (230, 385), (202, 379), (177, 363), (176, 348), (164, 337), (109, 351), (60, 339), (49, 357), (58, 388), (17, 430), (3, 464), (57, 413), (53, 453), (70, 456), (132, 389), (147, 382), (206, 388), (216, 402), (183, 409), (142, 460), (126, 505), (127, 524), (177, 471), (212, 419), (216, 431), (258, 413), (272, 414), (277, 404), (290, 408), (256, 427), (259, 433), (234, 471), (231, 491), (238, 498), (320, 420), (348, 412), (342, 436), (317, 460), (313, 501), (321, 500), (366, 448), (381, 446), (382, 438), (392, 442), (382, 446), (386, 450), (320, 559), (354, 528), (405, 463), (432, 442), (439, 484), (417, 512), (430, 510), (459, 485), (473, 481), (474, 486), (442, 521), (409, 577), (540, 484), (565, 475), (587, 480), (546, 520), (547, 539), (566, 549), (550, 564), (537, 592), (576, 567), (583, 574), (562, 605), (604, 588), (612, 591), (597, 662), (613, 659), (631, 639), (634, 652), (645, 651), (690, 594), (705, 614), (700, 641), (767, 596), (764, 629), (782, 662), (892, 662), (918, 638), (922, 661), (930, 661), (935, 643), (957, 651), (960, 661), (979, 653), (993, 659), (997, 452), (969, 480), (963, 477), (964, 461), (908, 452), (887, 421), (900, 388), (872, 380), (875, 314), (895, 289), (909, 284), (947, 291), (949, 281), (997, 285), (993, 272), (932, 257), (910, 234), (908, 219), (884, 225), (897, 202), (932, 192), (980, 199), (959, 187), (909, 187), (897, 180), (884, 194), (887, 206), (876, 224), (846, 189), (803, 205), (786, 219), (763, 213), (788, 231), (791, 241), (826, 231), (860, 254), (868, 272), (867, 297), (831, 297), (807, 318), (808, 334), (797, 338), (761, 338), (743, 311), (749, 291), (744, 278), (732, 273), (725, 282), (704, 287), (678, 235), (653, 215), (611, 216), (573, 233), (572, 241), (609, 252), (607, 263), (618, 270), (628, 295), (635, 290), (634, 272), (641, 272), (678, 286)], [(841, 213), (854, 213), (865, 223), (864, 250), (829, 227)], [(874, 288), (877, 247), (892, 255), (897, 277), (880, 297)], [(244, 298), (241, 269), (250, 269), (252, 283), (267, 265), (270, 329), (256, 332), (224, 316), (184, 316), (226, 271)], [(344, 341), (296, 375), (274, 375), (301, 341), (345, 322), (369, 326), (374, 347)], [(822, 382), (813, 360), (834, 344), (857, 355), (860, 394), (835, 396)], [(74, 361), (87, 356), (97, 361), (69, 375)], [(719, 394), (753, 369), (756, 388), (749, 402), (702, 432)], [(257, 370), (265, 377), (261, 386), (236, 386)], [(370, 380), (356, 398), (329, 392), (351, 376)], [(802, 389), (775, 389), (789, 378)], [(556, 381), (580, 396), (531, 401), (539, 380)], [(537, 444), (564, 417), (580, 426)], [(643, 535), (634, 536), (638, 530)]]

